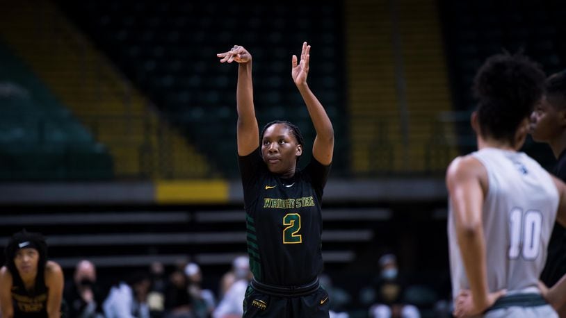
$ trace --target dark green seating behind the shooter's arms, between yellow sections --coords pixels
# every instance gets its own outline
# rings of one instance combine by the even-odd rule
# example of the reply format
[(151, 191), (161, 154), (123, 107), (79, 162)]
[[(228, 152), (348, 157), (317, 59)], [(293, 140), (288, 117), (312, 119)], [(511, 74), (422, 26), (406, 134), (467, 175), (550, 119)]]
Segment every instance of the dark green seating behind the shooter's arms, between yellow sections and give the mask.
[[(60, 1), (60, 8), (154, 101), (170, 122), (229, 177), (236, 166), (236, 66), (216, 53), (242, 44), (254, 56), (259, 125), (273, 119), (300, 124), (309, 144), (314, 129), (291, 79), (291, 54), (312, 44), (309, 85), (334, 123), (334, 174), (346, 174), (343, 126), (343, 47), (339, 5), (214, 4), (186, 1)], [(214, 140), (214, 142), (211, 142)], [(309, 156), (309, 147), (305, 155)]]

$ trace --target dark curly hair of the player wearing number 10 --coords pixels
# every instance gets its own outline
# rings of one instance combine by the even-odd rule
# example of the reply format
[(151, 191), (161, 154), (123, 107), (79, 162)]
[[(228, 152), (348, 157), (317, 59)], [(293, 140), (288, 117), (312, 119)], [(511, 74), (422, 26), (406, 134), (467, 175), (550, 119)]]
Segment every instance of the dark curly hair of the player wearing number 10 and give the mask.
[(514, 144), (515, 131), (544, 92), (540, 65), (521, 53), (487, 58), (474, 78), (481, 135)]

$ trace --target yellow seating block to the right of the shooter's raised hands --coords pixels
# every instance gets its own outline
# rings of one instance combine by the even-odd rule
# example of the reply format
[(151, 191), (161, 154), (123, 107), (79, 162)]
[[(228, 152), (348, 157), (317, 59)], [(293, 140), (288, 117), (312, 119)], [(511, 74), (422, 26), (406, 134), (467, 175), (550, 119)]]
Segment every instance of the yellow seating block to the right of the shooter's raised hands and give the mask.
[(355, 176), (435, 175), (455, 156), (435, 3), (345, 1), (348, 129)]

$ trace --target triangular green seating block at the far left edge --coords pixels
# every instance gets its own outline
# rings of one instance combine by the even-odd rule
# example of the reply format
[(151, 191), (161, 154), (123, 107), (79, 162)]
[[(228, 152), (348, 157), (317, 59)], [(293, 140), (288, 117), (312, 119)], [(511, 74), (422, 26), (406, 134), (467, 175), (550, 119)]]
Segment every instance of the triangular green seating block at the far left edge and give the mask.
[(107, 179), (113, 160), (0, 43), (0, 180)]

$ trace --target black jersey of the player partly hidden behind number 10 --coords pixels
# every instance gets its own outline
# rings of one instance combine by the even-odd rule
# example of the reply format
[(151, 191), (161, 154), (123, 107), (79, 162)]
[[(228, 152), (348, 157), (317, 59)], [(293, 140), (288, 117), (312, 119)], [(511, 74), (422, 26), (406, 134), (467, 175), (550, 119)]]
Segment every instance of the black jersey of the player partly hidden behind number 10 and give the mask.
[[(558, 156), (553, 174), (566, 182), (566, 150)], [(548, 249), (547, 263), (540, 274), (540, 280), (551, 287), (566, 274), (566, 228), (558, 222), (554, 224)]]

